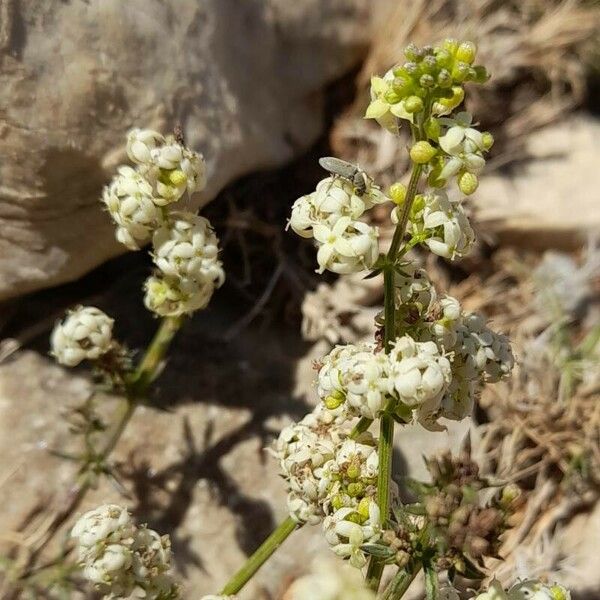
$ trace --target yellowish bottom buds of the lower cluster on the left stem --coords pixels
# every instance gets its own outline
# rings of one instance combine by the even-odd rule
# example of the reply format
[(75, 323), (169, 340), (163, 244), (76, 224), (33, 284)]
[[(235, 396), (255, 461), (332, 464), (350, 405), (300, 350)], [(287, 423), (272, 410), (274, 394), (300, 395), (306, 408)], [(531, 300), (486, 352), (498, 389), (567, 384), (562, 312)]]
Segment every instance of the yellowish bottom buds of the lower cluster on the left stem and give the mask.
[(146, 308), (161, 317), (177, 317), (206, 308), (215, 290), (211, 283), (158, 276), (149, 277), (144, 288)]

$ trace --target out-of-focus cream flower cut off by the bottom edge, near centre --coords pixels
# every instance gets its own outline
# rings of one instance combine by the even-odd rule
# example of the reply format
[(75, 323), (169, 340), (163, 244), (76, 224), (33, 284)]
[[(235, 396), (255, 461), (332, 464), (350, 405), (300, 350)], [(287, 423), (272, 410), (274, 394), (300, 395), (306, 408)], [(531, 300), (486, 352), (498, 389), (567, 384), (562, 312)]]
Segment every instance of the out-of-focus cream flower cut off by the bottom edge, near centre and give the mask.
[(292, 583), (283, 600), (375, 600), (375, 593), (356, 569), (319, 559), (310, 573)]

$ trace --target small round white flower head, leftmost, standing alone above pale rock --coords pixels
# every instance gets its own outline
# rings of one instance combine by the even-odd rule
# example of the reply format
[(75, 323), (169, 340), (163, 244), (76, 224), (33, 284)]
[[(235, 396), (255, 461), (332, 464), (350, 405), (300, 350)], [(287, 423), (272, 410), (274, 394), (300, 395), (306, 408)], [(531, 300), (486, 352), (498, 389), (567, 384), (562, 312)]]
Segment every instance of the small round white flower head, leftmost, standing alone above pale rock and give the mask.
[(50, 338), (52, 355), (68, 367), (97, 360), (113, 346), (114, 320), (93, 306), (78, 306), (57, 323)]

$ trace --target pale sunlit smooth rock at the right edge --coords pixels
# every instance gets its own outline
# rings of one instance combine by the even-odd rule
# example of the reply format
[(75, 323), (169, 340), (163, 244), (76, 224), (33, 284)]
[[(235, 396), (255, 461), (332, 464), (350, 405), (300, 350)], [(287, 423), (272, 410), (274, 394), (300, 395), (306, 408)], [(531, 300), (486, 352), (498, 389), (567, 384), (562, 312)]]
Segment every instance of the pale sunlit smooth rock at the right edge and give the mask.
[(578, 248), (600, 233), (600, 119), (576, 115), (532, 134), (530, 159), (482, 178), (474, 196), (481, 228), (501, 243)]

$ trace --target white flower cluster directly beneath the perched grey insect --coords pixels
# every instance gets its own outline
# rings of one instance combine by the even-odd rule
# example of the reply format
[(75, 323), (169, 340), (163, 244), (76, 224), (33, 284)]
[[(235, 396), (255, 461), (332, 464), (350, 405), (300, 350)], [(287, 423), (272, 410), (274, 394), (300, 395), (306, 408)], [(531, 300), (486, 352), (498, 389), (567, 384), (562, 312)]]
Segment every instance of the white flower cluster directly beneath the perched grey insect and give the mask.
[(345, 178), (327, 177), (314, 192), (294, 202), (289, 226), (298, 235), (315, 239), (318, 273), (355, 273), (372, 267), (379, 256), (378, 229), (359, 219), (387, 200), (370, 179), (366, 190), (359, 192)]

